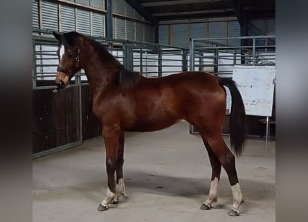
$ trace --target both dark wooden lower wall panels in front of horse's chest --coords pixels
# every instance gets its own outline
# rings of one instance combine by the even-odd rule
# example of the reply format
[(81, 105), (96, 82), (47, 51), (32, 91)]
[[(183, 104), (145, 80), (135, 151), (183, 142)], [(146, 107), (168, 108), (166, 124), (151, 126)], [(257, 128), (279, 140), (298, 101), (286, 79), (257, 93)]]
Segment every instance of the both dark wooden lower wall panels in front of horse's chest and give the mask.
[[(80, 141), (78, 87), (53, 93), (53, 89), (33, 90), (33, 153)], [(82, 86), (82, 139), (100, 137), (102, 128), (92, 112), (93, 96)]]

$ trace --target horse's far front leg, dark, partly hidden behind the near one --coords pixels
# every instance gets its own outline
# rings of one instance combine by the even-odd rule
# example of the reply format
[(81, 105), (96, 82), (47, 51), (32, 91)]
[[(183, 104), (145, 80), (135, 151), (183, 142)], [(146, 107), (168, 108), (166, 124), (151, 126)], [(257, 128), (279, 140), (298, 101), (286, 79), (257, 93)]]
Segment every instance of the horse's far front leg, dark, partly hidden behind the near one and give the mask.
[(112, 200), (112, 203), (116, 204), (119, 201), (120, 196), (127, 197), (125, 194), (125, 184), (123, 177), (123, 164), (124, 164), (124, 142), (125, 132), (121, 132), (118, 139), (118, 153), (116, 158), (116, 197)]

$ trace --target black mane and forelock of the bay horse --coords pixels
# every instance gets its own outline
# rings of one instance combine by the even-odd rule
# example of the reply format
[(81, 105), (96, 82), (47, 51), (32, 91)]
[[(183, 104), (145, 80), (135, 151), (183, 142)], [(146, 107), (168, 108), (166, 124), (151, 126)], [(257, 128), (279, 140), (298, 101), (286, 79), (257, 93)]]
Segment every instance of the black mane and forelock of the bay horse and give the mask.
[(118, 61), (114, 56), (107, 51), (106, 46), (100, 44), (100, 42), (84, 36), (77, 32), (64, 33), (62, 38), (62, 44), (69, 44), (70, 46), (78, 45), (78, 37), (84, 37), (90, 42), (94, 50), (98, 53), (103, 63), (116, 66), (118, 70), (118, 83), (123, 89), (133, 89), (139, 82), (141, 74), (136, 71), (129, 71)]

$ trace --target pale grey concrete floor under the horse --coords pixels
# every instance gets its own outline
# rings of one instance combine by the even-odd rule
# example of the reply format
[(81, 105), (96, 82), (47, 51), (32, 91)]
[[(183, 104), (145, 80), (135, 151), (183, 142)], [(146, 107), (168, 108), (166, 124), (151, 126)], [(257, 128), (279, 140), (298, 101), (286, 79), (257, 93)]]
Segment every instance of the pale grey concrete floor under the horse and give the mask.
[[(33, 160), (33, 221), (275, 221), (275, 142), (248, 139), (237, 173), (244, 194), (240, 216), (228, 216), (232, 194), (224, 169), (218, 203), (199, 210), (211, 168), (199, 135), (180, 122), (152, 133), (127, 133), (127, 200), (96, 208), (107, 190), (103, 139)], [(225, 138), (226, 141), (228, 137)]]

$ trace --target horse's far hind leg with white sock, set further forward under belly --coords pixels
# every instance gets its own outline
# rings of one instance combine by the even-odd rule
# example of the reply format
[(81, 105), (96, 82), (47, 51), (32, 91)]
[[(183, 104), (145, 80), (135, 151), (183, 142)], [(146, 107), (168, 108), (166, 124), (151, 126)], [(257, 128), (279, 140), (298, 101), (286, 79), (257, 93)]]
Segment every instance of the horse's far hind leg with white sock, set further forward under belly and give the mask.
[[(202, 136), (202, 133), (201, 133)], [(208, 193), (208, 199), (204, 201), (201, 205), (201, 210), (210, 210), (212, 203), (217, 202), (218, 200), (218, 187), (221, 173), (221, 163), (219, 162), (215, 153), (212, 152), (210, 145), (206, 142), (206, 139), (203, 139), (206, 150), (208, 151), (208, 157), (210, 158), (210, 164), (212, 167), (212, 178), (210, 182), (210, 191)]]

